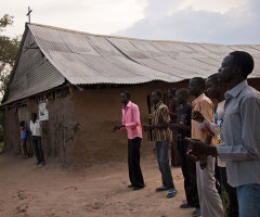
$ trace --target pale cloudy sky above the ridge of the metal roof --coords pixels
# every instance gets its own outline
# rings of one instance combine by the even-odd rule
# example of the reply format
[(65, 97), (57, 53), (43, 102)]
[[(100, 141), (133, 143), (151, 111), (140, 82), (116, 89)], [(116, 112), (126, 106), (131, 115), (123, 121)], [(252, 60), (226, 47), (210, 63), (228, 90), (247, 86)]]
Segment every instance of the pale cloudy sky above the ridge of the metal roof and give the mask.
[(259, 0), (1, 0), (14, 16), (1, 34), (31, 23), (133, 38), (209, 43), (260, 43)]

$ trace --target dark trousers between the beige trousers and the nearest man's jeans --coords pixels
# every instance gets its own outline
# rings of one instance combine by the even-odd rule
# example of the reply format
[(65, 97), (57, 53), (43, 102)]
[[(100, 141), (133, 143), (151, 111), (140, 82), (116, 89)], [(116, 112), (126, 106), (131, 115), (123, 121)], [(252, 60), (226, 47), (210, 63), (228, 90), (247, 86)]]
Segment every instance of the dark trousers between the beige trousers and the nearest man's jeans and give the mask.
[(238, 217), (236, 189), (227, 183), (225, 167), (219, 167), (222, 201), (226, 217)]

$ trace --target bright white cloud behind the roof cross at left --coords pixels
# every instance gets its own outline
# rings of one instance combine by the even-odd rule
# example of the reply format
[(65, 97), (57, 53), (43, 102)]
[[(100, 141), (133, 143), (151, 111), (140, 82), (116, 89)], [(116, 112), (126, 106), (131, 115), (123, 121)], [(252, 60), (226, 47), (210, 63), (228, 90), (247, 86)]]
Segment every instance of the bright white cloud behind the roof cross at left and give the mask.
[(143, 18), (146, 4), (147, 0), (9, 0), (2, 3), (0, 14), (14, 15), (14, 25), (6, 35), (23, 33), (27, 5), (32, 9), (32, 23), (110, 34)]

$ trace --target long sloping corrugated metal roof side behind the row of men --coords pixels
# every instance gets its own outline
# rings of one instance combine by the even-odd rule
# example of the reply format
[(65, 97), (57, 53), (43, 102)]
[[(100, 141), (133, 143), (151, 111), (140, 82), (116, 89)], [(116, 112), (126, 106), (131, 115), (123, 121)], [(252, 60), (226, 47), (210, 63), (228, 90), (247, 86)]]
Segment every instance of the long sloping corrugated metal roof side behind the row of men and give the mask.
[[(217, 73), (233, 50), (260, 61), (260, 46), (224, 46), (98, 36), (28, 24), (50, 62), (75, 85), (176, 82)], [(259, 65), (251, 77), (260, 76)]]

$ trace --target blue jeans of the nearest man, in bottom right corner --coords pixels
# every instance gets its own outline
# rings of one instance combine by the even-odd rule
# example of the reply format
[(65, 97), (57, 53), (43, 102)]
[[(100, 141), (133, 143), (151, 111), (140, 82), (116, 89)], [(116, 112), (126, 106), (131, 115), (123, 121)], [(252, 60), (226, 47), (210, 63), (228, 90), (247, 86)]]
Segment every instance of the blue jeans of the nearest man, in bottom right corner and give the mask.
[(239, 217), (260, 217), (260, 184), (248, 183), (236, 188)]

